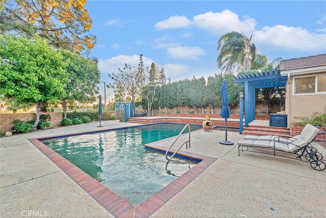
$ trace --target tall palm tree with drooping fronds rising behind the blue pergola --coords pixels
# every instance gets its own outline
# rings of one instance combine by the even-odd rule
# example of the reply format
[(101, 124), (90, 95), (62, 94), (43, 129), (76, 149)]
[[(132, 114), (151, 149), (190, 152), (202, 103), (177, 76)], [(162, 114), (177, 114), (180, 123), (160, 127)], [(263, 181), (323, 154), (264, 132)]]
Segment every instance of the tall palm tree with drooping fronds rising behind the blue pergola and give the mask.
[(232, 72), (237, 67), (237, 72), (250, 70), (250, 63), (256, 56), (256, 46), (251, 43), (250, 38), (235, 31), (226, 33), (221, 36), (218, 42), (217, 51), (220, 55), (216, 60), (222, 70)]

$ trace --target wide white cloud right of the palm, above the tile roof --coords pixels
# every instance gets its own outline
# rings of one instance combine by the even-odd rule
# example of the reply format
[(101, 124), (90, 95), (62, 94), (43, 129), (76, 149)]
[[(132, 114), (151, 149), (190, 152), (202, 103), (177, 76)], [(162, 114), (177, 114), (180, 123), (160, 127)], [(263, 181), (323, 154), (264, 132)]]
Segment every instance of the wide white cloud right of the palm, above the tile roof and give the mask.
[[(253, 34), (252, 42), (261, 50), (309, 52), (325, 51), (325, 34), (311, 33), (301, 27), (276, 25)], [(265, 47), (266, 49), (262, 49)]]

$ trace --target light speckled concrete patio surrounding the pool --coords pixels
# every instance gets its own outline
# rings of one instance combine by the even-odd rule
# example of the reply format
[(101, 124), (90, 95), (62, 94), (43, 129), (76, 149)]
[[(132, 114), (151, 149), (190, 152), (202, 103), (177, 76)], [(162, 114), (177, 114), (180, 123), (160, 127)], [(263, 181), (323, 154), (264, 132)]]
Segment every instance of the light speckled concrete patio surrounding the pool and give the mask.
[[(113, 217), (28, 140), (138, 126), (118, 120), (101, 124), (2, 137), (1, 217)], [(326, 217), (326, 170), (315, 171), (307, 162), (266, 154), (238, 156), (236, 142), (243, 136), (228, 131), (228, 140), (234, 144), (225, 146), (219, 143), (225, 139), (224, 131), (192, 133), (191, 148), (182, 150), (217, 160), (150, 217)], [(154, 144), (169, 147), (171, 141)], [(324, 148), (313, 145), (326, 156)]]

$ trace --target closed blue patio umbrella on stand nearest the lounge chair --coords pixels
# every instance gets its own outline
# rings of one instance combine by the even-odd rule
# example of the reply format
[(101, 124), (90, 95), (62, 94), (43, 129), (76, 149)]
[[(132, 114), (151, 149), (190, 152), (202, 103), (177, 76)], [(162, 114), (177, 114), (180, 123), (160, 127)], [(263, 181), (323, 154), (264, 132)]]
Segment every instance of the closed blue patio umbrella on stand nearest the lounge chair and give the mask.
[(223, 80), (223, 83), (221, 86), (221, 97), (222, 97), (222, 109), (221, 109), (220, 115), (223, 118), (225, 118), (225, 140), (221, 140), (220, 144), (231, 145), (231, 144), (233, 144), (233, 142), (228, 141), (228, 130), (227, 130), (227, 119), (229, 118), (231, 112), (228, 107), (229, 96), (228, 96), (228, 86), (226, 84), (226, 80)]

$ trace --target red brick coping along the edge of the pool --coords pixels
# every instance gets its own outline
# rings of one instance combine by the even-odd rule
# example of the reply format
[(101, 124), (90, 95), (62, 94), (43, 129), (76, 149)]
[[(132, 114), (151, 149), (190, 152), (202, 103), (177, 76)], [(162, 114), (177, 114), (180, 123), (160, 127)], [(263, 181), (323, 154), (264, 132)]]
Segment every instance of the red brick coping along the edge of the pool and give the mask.
[[(57, 138), (61, 136), (56, 135), (55, 137)], [(66, 175), (83, 188), (95, 201), (115, 217), (149, 217), (205, 171), (205, 169), (215, 160), (217, 160), (213, 157), (179, 151), (177, 155), (189, 159), (200, 160), (200, 162), (173, 182), (156, 192), (146, 201), (137, 207), (134, 207), (39, 140), (44, 138), (31, 138), (28, 140), (53, 163), (55, 163)], [(153, 143), (146, 144), (145, 148), (164, 153), (167, 151), (166, 147), (157, 146)], [(171, 149), (170, 151), (173, 153), (175, 152), (174, 149)]]

